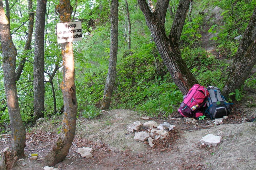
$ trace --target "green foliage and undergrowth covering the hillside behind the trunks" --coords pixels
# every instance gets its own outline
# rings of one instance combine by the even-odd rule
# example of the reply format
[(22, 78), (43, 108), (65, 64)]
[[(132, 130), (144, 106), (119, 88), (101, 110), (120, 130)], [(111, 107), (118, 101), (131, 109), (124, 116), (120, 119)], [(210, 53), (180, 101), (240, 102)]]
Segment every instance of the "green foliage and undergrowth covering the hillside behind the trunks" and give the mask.
[[(19, 61), (27, 57), (24, 70), (20, 80), (17, 82), (17, 91), (20, 104), (20, 113), (25, 123), (33, 119), (33, 62), (34, 62), (34, 40), (31, 50), (24, 55), (28, 17), (27, 2), (20, 1), (20, 5), (9, 2), (11, 8), (11, 32), (13, 41), (17, 48), (16, 67)], [(58, 2), (48, 2), (47, 23), (45, 25), (45, 71), (52, 73), (56, 65), (61, 65), (61, 45), (57, 44), (55, 26), (59, 22), (59, 16), (55, 15), (54, 6)], [(75, 1), (71, 1), (74, 7)], [(119, 46), (118, 61), (116, 69), (116, 82), (112, 95), (111, 109), (133, 109), (140, 114), (153, 117), (167, 117), (177, 111), (182, 102), (182, 94), (173, 83), (170, 74), (164, 67), (163, 60), (158, 54), (156, 45), (151, 42), (151, 32), (148, 29), (145, 17), (138, 7), (137, 1), (128, 1), (130, 19), (132, 24), (131, 53), (127, 45), (127, 16), (124, 2), (119, 2)], [(156, 2), (153, 1), (153, 4)], [(180, 38), (181, 55), (192, 74), (200, 84), (204, 86), (213, 85), (221, 88), (227, 79), (230, 59), (237, 51), (239, 41), (234, 37), (242, 35), (256, 6), (256, 1), (214, 0), (197, 1), (193, 5), (191, 21), (186, 21)], [(178, 1), (170, 2), (165, 20), (166, 35), (172, 27), (173, 14), (176, 12)], [(78, 115), (87, 119), (93, 119), (101, 114), (99, 109), (103, 96), (106, 75), (108, 72), (110, 52), (110, 2), (109, 1), (78, 1), (74, 20), (82, 20), (83, 41), (73, 42), (75, 59), (75, 84), (78, 101)], [(221, 22), (213, 22), (212, 9), (220, 7)], [(36, 4), (33, 5), (35, 9)], [(205, 10), (208, 9), (208, 10)], [(208, 12), (207, 12), (208, 11)], [(232, 15), (232, 16), (231, 16)], [(206, 16), (210, 19), (206, 21)], [(89, 22), (95, 20), (95, 28)], [(24, 23), (25, 22), (25, 23)], [(24, 24), (21, 24), (24, 23)], [(18, 30), (16, 30), (19, 28)], [(207, 29), (205, 29), (207, 28)], [(85, 35), (87, 29), (90, 35)], [(15, 31), (16, 30), (16, 31)], [(205, 44), (202, 35), (214, 34), (211, 40), (216, 45), (216, 53), (222, 58), (211, 55), (202, 48)], [(0, 52), (1, 53), (1, 52)], [(0, 54), (1, 55), (1, 54)], [(223, 58), (225, 58), (223, 60)], [(162, 66), (161, 73), (156, 70), (155, 62)], [(1, 63), (2, 65), (2, 63)], [(246, 86), (255, 88), (256, 74), (251, 75), (245, 82)], [(3, 71), (0, 68), (0, 78), (3, 80)], [(49, 76), (45, 74), (46, 80)], [(60, 84), (62, 82), (62, 68), (57, 71), (53, 78), (54, 90), (56, 93), (57, 110), (63, 105)], [(4, 84), (0, 82), (0, 94), (4, 107)], [(231, 93), (232, 94), (232, 93)], [(235, 95), (239, 101), (244, 96), (243, 89), (236, 89)], [(53, 114), (53, 96), (50, 83), (45, 83), (45, 115)], [(8, 111), (5, 109), (0, 113), (0, 124), (9, 125)], [(105, 122), (106, 125), (110, 121)], [(59, 128), (60, 129), (60, 128)], [(2, 129), (1, 129), (2, 130)]]

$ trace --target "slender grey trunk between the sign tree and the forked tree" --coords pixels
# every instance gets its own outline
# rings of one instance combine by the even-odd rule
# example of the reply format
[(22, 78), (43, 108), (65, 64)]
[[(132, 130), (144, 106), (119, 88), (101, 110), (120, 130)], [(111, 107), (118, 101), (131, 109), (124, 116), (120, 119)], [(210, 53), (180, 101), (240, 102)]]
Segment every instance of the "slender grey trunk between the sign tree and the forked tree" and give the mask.
[(109, 109), (116, 77), (116, 60), (118, 50), (118, 0), (111, 1), (110, 58), (101, 110)]

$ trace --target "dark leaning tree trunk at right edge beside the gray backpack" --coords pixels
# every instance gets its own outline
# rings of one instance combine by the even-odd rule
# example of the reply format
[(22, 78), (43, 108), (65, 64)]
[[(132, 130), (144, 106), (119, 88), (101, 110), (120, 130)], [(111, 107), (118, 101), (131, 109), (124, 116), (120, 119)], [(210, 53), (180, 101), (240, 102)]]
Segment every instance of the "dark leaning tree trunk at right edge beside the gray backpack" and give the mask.
[(256, 63), (256, 8), (243, 34), (237, 52), (234, 56), (229, 79), (222, 89), (222, 94), (228, 96), (235, 89), (240, 89)]

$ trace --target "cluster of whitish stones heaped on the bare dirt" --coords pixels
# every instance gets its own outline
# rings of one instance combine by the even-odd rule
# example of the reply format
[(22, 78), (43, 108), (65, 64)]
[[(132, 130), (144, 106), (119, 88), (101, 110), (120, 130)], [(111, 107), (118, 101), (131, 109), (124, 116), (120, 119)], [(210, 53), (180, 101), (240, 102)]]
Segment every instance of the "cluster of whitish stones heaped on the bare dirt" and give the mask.
[(155, 121), (148, 121), (143, 124), (140, 121), (136, 121), (128, 126), (127, 131), (133, 133), (134, 130), (138, 131), (141, 126), (147, 128), (147, 131), (135, 132), (134, 140), (142, 142), (148, 140), (150, 147), (154, 147), (155, 140), (164, 140), (165, 137), (169, 136), (169, 131), (175, 127), (168, 122), (158, 125)]

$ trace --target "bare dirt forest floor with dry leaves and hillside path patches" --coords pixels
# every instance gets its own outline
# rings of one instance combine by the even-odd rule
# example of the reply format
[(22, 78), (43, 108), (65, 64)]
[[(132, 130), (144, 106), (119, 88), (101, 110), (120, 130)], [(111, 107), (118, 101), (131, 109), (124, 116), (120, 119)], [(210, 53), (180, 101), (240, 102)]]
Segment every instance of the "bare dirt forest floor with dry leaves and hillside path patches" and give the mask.
[[(220, 10), (212, 10), (211, 20), (221, 21)], [(207, 18), (206, 18), (207, 19)], [(218, 56), (211, 33), (202, 33), (202, 46), (209, 53)], [(222, 58), (221, 58), (222, 59)], [(158, 124), (168, 122), (175, 125), (171, 137), (156, 141), (154, 147), (133, 139), (134, 133), (127, 132), (127, 126), (142, 119), (140, 113), (131, 110), (108, 110), (97, 119), (78, 117), (76, 134), (68, 156), (54, 167), (58, 170), (234, 170), (256, 169), (256, 122), (243, 123), (247, 117), (256, 116), (256, 91), (245, 88), (245, 97), (231, 106), (228, 119), (218, 125), (207, 124), (209, 120), (188, 123), (178, 112), (166, 119), (151, 118)], [(26, 158), (18, 160), (14, 170), (41, 170), (42, 159), (52, 149), (58, 138), (62, 116), (44, 119), (36, 127), (27, 130)], [(200, 140), (207, 134), (222, 137), (217, 146), (202, 145)], [(0, 136), (3, 150), (11, 147), (11, 135)], [(93, 157), (83, 158), (77, 153), (80, 147), (93, 148)], [(38, 153), (37, 160), (29, 160), (28, 154)], [(41, 159), (40, 159), (41, 158)]]

